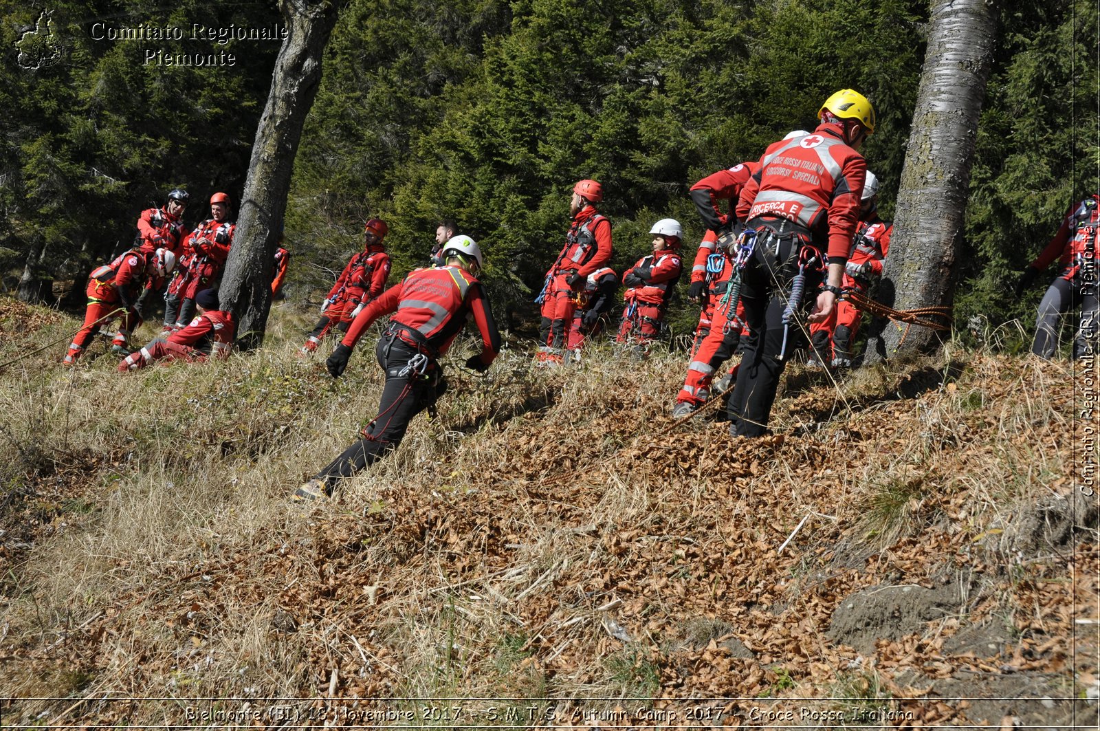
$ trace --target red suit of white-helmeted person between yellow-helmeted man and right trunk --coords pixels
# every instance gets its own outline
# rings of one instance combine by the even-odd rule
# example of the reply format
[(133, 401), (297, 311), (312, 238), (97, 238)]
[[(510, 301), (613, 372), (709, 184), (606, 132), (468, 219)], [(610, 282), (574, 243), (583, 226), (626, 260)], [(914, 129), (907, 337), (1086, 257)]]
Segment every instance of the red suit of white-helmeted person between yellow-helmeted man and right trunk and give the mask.
[[(890, 252), (890, 234), (893, 225), (887, 223), (878, 214), (859, 222), (856, 238), (848, 251), (848, 262), (842, 287), (867, 295), (871, 283), (882, 276), (882, 264)], [(847, 367), (851, 364), (851, 346), (859, 332), (862, 313), (847, 299), (838, 299), (828, 319), (810, 326), (810, 340), (815, 357), (824, 364)]]

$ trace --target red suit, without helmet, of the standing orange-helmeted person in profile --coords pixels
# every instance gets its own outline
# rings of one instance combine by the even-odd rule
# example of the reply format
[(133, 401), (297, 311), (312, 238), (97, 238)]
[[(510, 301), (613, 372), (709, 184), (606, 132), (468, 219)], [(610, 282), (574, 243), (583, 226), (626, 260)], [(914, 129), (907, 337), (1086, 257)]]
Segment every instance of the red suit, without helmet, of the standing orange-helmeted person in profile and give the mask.
[[(542, 342), (559, 351), (565, 345), (566, 327), (573, 321), (575, 295), (584, 280), (612, 260), (612, 222), (586, 205), (573, 218), (565, 247), (547, 272), (540, 334)], [(574, 284), (570, 284), (570, 281)]]

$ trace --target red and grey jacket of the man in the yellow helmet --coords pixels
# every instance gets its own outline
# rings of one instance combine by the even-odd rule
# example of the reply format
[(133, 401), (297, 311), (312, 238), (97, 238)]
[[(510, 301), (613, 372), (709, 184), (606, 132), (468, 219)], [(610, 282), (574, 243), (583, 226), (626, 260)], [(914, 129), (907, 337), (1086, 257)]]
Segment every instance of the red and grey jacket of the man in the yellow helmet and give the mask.
[(848, 257), (859, 220), (859, 196), (867, 177), (864, 156), (844, 143), (840, 126), (824, 122), (813, 134), (780, 140), (760, 157), (737, 203), (737, 218), (785, 218), (825, 244), (831, 262)]

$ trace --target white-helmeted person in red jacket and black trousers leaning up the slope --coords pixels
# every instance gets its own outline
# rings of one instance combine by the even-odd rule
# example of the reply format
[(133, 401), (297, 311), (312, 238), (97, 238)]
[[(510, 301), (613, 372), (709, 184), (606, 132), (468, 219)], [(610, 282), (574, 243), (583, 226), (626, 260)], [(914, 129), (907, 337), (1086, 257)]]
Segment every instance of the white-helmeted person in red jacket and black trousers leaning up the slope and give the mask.
[(378, 415), (362, 430), (362, 439), (298, 488), (293, 500), (331, 495), (341, 478), (397, 448), (411, 418), (431, 407), (446, 390), (437, 361), (468, 317), (473, 317), (481, 332), (482, 351), (466, 360), (466, 368), (484, 372), (501, 351), (501, 336), (476, 279), (483, 263), (481, 249), (469, 236), (457, 236), (443, 247), (442, 255), (442, 266), (414, 270), (370, 303), (329, 356), (329, 373), (339, 378), (363, 332), (383, 315), (396, 313), (374, 349), (386, 373)]

